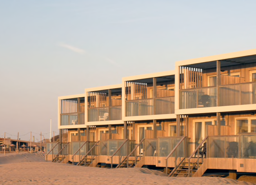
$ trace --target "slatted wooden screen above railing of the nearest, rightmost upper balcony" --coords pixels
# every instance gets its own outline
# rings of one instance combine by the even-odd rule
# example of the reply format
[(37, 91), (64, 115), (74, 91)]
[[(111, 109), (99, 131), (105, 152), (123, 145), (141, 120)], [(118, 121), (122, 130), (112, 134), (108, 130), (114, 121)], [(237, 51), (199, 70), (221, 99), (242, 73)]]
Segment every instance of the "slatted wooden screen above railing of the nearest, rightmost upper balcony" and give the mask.
[(203, 69), (180, 66), (180, 89), (202, 87)]

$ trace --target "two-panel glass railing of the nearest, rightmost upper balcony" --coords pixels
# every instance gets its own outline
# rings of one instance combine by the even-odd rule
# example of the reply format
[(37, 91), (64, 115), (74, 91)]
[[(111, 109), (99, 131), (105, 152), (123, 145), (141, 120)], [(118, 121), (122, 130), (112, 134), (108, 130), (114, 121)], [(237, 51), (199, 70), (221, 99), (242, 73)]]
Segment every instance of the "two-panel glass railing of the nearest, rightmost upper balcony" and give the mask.
[[(217, 97), (217, 88), (219, 97)], [(180, 90), (180, 109), (256, 103), (256, 82)]]

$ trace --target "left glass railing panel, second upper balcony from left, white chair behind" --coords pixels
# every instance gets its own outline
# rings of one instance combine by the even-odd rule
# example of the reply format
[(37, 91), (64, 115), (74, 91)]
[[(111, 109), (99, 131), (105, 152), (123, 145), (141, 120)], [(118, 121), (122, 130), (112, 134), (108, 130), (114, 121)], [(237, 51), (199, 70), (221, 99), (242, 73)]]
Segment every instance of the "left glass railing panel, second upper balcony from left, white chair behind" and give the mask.
[(108, 121), (109, 107), (88, 109), (88, 122)]

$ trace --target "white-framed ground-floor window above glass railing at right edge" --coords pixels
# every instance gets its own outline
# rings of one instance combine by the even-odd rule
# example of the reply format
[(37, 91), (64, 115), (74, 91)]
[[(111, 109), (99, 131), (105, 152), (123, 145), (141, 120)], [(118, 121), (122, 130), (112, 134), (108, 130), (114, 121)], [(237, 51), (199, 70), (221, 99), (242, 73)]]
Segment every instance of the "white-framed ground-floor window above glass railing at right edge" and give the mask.
[(256, 132), (256, 117), (236, 119), (236, 133), (247, 132)]

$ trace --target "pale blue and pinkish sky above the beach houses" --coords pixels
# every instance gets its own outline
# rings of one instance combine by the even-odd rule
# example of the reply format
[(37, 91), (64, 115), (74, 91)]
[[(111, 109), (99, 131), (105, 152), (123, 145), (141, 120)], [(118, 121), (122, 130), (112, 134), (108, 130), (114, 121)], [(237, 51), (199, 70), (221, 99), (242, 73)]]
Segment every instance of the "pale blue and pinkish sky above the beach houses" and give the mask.
[(50, 118), (58, 132), (58, 96), (255, 49), (255, 7), (254, 0), (0, 0), (0, 137), (47, 133)]

